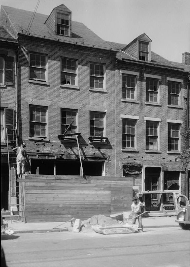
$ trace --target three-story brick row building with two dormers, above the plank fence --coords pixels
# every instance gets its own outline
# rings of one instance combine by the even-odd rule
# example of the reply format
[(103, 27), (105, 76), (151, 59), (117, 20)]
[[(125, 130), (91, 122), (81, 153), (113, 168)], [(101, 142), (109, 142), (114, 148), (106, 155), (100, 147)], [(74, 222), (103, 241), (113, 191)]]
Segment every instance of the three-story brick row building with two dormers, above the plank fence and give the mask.
[(184, 193), (188, 62), (155, 54), (146, 34), (106, 42), (71, 14), (60, 5), (31, 24), (32, 12), (1, 7), (19, 44), (19, 144), (31, 174), (132, 176), (134, 190)]

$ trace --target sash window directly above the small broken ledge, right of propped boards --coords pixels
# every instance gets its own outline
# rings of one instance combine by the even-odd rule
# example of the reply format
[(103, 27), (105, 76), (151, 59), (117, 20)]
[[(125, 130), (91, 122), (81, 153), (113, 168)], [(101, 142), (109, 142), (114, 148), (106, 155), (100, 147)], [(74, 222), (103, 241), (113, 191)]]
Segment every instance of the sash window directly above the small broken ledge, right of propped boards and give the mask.
[(104, 113), (90, 112), (90, 136), (104, 136)]

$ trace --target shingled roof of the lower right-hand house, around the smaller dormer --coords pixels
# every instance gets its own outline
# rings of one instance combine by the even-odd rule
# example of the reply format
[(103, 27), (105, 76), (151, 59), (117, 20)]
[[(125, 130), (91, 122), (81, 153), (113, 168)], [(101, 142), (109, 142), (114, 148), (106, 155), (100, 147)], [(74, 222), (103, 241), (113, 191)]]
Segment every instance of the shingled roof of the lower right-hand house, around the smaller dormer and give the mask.
[[(107, 42), (110, 46), (112, 46), (114, 49), (119, 50), (117, 53), (116, 58), (119, 60), (129, 60), (129, 61), (136, 61), (136, 62), (142, 62), (141, 60), (135, 59), (130, 54), (122, 51), (123, 48), (127, 46), (127, 44), (120, 44), (115, 42)], [(146, 63), (146, 62), (144, 62)], [(165, 59), (164, 57), (156, 54), (155, 52), (151, 51), (151, 62), (148, 62), (149, 64), (152, 63), (152, 65), (160, 65), (164, 67), (172, 67), (174, 69), (181, 69), (187, 72), (190, 72), (190, 66), (185, 65), (183, 63), (173, 62)]]

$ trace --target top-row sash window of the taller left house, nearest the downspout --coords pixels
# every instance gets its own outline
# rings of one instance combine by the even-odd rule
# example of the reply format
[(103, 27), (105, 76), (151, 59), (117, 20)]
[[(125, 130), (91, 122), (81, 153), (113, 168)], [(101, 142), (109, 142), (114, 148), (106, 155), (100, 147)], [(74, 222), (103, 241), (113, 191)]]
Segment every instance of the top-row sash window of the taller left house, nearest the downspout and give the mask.
[(47, 56), (44, 54), (30, 53), (29, 79), (46, 82), (47, 80)]

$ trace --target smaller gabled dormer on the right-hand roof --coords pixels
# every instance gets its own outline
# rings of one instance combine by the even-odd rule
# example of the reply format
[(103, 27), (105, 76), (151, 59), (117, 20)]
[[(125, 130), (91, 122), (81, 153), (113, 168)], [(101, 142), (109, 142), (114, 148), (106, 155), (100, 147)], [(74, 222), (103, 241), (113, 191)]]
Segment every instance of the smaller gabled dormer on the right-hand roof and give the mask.
[(137, 60), (151, 61), (151, 44), (152, 40), (145, 33), (139, 35), (132, 42), (127, 44), (122, 51)]

